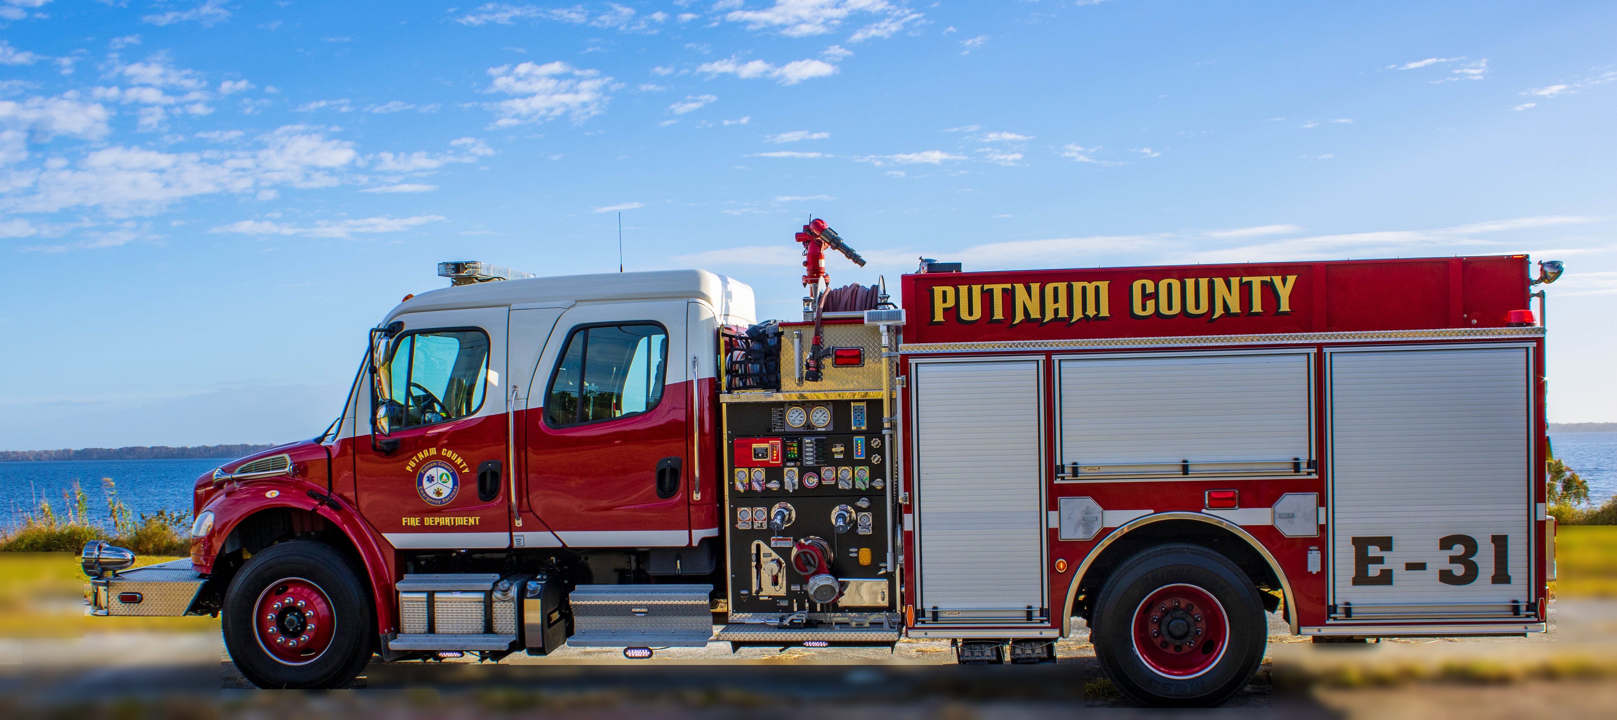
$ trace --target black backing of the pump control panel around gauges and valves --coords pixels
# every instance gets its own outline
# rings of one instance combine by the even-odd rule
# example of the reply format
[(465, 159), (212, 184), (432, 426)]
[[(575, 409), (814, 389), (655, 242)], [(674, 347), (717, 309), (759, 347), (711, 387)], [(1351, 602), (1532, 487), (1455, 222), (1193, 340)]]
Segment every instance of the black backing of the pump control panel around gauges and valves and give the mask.
[[(862, 402), (867, 417), (876, 420), (875, 426), (867, 425), (872, 429), (849, 429), (854, 418), (854, 402)], [(817, 433), (807, 426), (778, 429), (783, 426), (789, 405), (802, 405), (804, 408), (828, 405), (833, 418), (830, 431)], [(891, 612), (896, 607), (896, 573), (894, 568), (884, 567), (893, 536), (888, 499), (893, 478), (880, 417), (881, 400), (876, 399), (726, 405), (726, 447), (734, 447), (736, 439), (778, 437), (783, 441), (779, 467), (737, 468), (731, 462), (721, 478), (728, 484), (728, 504), (721, 523), (728, 538), (731, 568), (729, 612)], [(878, 457), (881, 460), (876, 460)], [(833, 470), (826, 473), (825, 468)], [(757, 478), (760, 471), (762, 478)], [(830, 481), (823, 475), (831, 475)], [(792, 509), (792, 523), (778, 531), (770, 526), (770, 521), (783, 502)], [(838, 533), (833, 521), (839, 507), (849, 513), (846, 533)], [(863, 526), (860, 526), (862, 515), (867, 523)], [(791, 563), (792, 544), (808, 536), (821, 538), (831, 546), (831, 575), (836, 580), (886, 581), (888, 607), (841, 607), (838, 602), (828, 605), (812, 602), (804, 589), (808, 578)], [(766, 563), (755, 552), (758, 541), (779, 555), (786, 565), (784, 594), (781, 596), (760, 597), (754, 594), (754, 588), (768, 588), (768, 578), (760, 576), (760, 573), (771, 571), (768, 567), (760, 567)], [(860, 565), (862, 550), (868, 565)]]

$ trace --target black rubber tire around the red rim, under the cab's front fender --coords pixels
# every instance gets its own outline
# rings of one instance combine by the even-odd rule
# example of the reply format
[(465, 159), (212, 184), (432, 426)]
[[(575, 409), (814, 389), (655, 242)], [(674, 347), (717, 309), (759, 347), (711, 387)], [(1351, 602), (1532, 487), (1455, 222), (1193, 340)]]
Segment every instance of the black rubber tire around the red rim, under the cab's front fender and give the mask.
[[(372, 636), (377, 631), (370, 592), (361, 578), (364, 573), (348, 557), (331, 546), (312, 541), (280, 542), (247, 560), (225, 591), (223, 609), (225, 647), (241, 675), (259, 688), (349, 686), (370, 662)], [(260, 643), (268, 630), (257, 625), (259, 620), (267, 620), (257, 617), (259, 605), (273, 601), (277, 591), (286, 592), (289, 583), (314, 588), (328, 599), (328, 607), (320, 615), (330, 615), (331, 622), (322, 631), (319, 652), (310, 652), (312, 657), (278, 659)], [(286, 607), (291, 610), (289, 604)], [(312, 623), (314, 618), (315, 615), (307, 615), (302, 622)], [(286, 633), (277, 631), (281, 636)], [(281, 647), (277, 652), (288, 651)]]

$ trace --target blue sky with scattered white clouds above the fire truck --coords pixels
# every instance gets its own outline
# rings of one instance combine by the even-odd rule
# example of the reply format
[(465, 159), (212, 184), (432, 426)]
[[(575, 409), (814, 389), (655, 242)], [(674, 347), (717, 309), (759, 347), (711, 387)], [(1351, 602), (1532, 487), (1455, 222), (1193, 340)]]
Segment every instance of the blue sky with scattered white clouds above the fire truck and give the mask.
[(1617, 421), (1611, 2), (0, 0), (0, 449), (281, 442), (435, 263), (1531, 253)]

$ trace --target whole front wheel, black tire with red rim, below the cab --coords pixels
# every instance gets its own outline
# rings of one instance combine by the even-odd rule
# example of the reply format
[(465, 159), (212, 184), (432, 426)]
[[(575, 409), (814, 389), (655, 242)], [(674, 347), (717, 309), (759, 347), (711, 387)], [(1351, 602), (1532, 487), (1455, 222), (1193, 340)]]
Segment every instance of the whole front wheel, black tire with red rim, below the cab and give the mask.
[(230, 657), (259, 688), (344, 688), (370, 662), (370, 601), (335, 547), (293, 541), (264, 549), (225, 591)]

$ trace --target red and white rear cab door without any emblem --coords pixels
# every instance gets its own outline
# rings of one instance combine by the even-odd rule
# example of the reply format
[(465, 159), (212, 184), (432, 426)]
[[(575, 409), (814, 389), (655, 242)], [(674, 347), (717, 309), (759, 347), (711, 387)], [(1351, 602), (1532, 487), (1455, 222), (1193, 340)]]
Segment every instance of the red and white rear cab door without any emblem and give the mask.
[(569, 547), (690, 544), (686, 302), (569, 308), (534, 373), (529, 505)]

